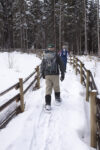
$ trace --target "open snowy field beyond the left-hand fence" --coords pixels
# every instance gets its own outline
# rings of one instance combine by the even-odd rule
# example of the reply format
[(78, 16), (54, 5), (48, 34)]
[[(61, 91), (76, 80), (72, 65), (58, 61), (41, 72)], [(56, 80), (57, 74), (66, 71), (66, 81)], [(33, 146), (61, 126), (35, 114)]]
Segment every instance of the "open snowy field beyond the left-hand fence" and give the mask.
[(19, 78), (25, 79), (40, 62), (32, 54), (0, 53), (0, 91), (17, 83)]

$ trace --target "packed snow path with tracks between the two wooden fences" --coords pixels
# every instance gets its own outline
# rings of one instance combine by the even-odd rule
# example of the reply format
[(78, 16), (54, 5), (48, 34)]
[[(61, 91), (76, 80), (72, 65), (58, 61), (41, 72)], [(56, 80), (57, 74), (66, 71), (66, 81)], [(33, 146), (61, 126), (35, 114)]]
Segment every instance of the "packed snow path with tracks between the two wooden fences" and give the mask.
[(41, 88), (25, 95), (25, 112), (0, 131), (0, 150), (90, 150), (89, 109), (85, 89), (68, 64), (65, 80), (60, 83), (62, 104), (52, 112), (43, 111), (45, 80)]

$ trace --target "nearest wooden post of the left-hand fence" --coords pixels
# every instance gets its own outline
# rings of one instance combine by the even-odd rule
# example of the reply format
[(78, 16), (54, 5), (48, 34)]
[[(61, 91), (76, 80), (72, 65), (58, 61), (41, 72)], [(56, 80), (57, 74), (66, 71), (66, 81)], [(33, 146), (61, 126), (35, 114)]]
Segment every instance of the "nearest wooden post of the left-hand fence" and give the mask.
[(23, 79), (19, 79), (19, 87), (20, 87), (20, 104), (21, 111), (24, 112), (24, 93), (23, 93)]

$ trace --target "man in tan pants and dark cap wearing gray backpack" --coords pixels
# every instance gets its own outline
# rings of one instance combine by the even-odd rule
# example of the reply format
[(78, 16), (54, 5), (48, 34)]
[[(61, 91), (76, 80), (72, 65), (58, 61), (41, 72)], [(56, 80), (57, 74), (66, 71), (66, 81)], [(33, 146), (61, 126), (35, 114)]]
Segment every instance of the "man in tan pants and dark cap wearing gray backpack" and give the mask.
[(64, 80), (65, 67), (60, 56), (55, 50), (54, 44), (48, 45), (48, 50), (45, 51), (41, 63), (41, 73), (46, 80), (46, 95), (45, 95), (45, 109), (51, 110), (51, 94), (52, 89), (55, 92), (55, 101), (61, 102), (60, 86), (59, 86), (59, 69), (61, 71), (61, 81)]

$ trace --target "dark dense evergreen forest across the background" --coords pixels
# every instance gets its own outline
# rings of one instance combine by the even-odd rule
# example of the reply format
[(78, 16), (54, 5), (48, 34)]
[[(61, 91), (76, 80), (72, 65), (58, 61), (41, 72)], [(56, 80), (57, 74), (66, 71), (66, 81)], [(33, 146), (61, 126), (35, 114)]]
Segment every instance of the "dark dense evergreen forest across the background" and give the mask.
[(99, 0), (0, 0), (0, 51), (68, 44), (74, 54), (99, 51)]

